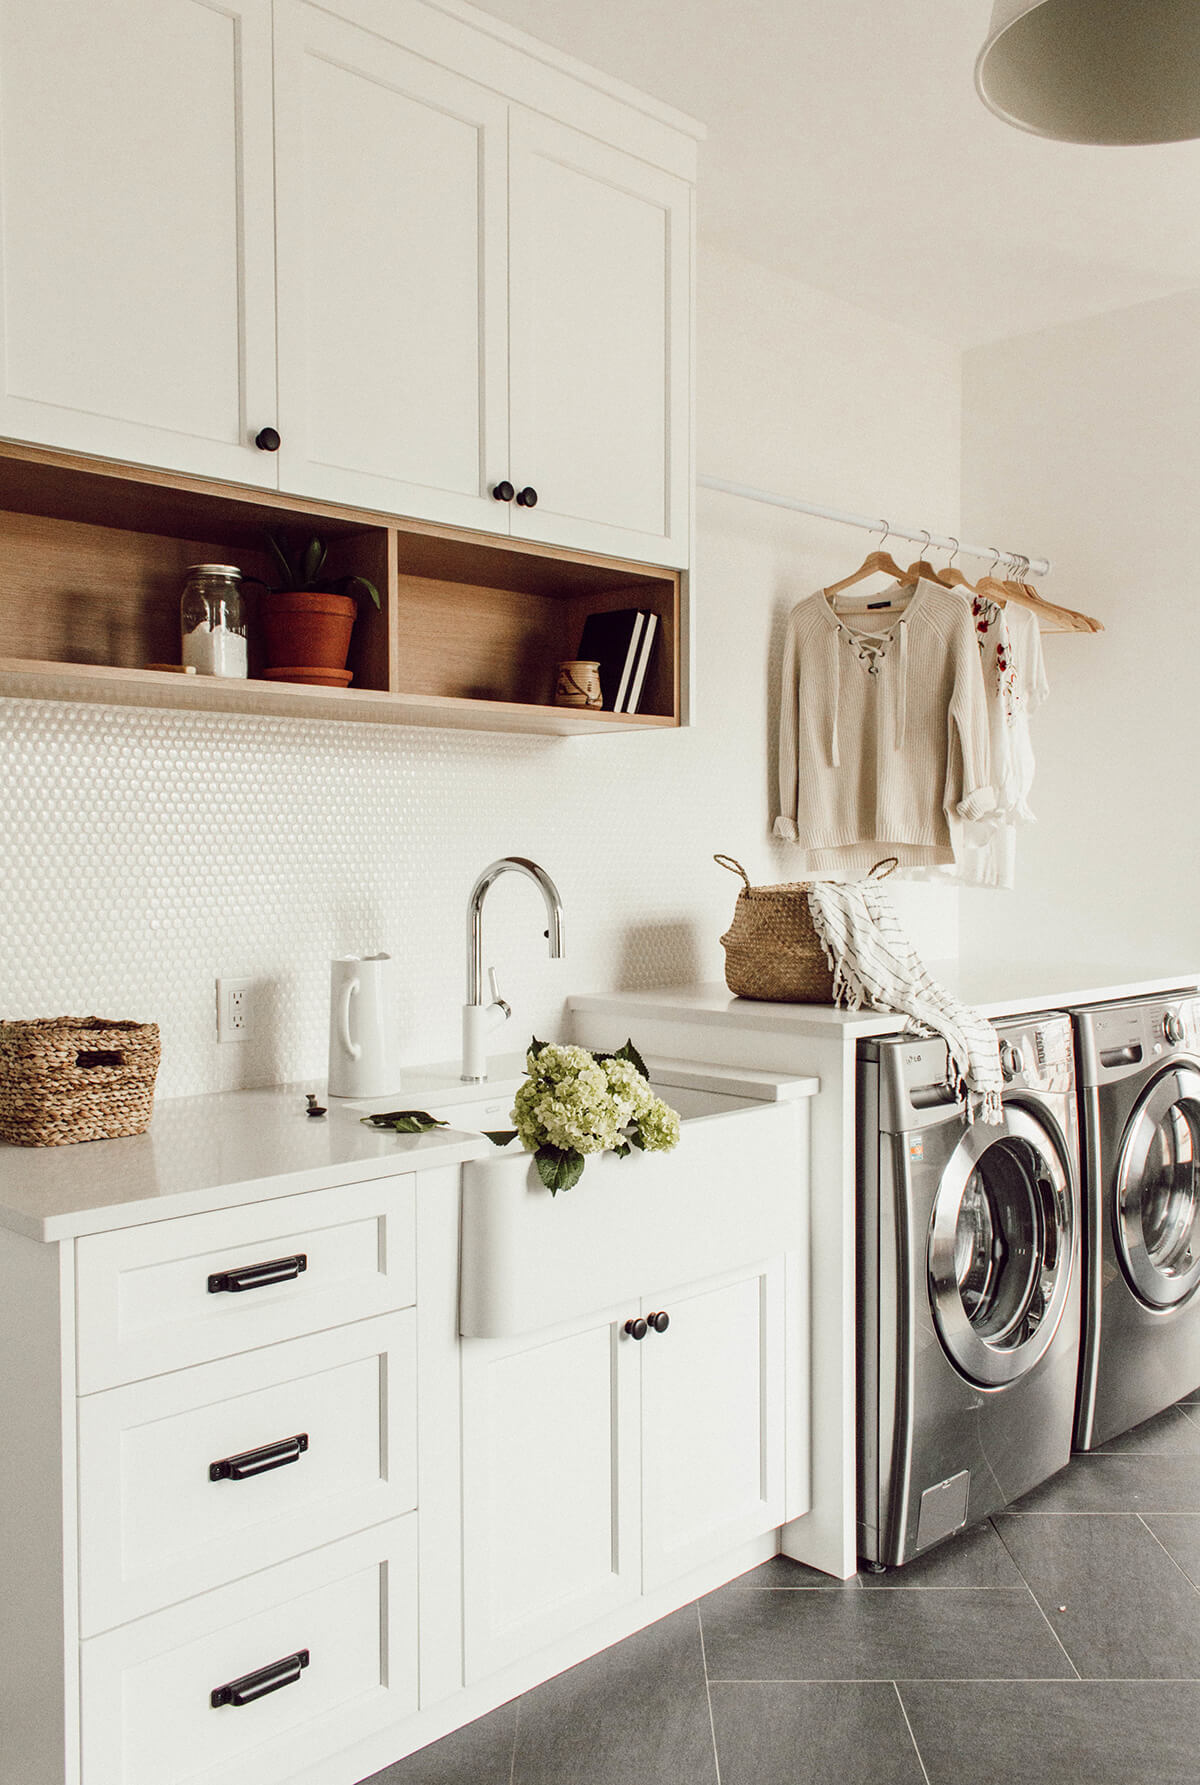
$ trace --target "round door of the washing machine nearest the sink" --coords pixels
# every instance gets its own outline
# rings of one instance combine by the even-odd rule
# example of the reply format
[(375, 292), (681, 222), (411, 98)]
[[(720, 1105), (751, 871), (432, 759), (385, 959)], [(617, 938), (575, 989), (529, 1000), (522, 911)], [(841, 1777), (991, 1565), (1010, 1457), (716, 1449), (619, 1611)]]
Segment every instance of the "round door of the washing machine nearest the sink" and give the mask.
[(982, 1387), (1023, 1376), (1057, 1332), (1075, 1221), (1062, 1148), (1032, 1112), (968, 1128), (941, 1176), (929, 1235), (938, 1337)]

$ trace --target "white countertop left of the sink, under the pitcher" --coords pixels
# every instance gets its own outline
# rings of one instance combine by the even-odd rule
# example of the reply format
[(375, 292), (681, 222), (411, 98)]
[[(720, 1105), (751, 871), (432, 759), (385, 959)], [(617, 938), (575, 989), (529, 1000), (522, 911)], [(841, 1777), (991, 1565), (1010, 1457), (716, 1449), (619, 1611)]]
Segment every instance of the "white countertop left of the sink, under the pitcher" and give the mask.
[[(305, 1114), (307, 1091), (327, 1103), (325, 1116)], [(373, 1103), (327, 1100), (316, 1082), (221, 1091), (159, 1098), (148, 1130), (121, 1141), (38, 1148), (0, 1142), (0, 1226), (29, 1239), (71, 1239), (452, 1166), (491, 1150), (480, 1133), (438, 1128), (402, 1135), (361, 1121), (371, 1108), (429, 1108), (434, 1100), (450, 1101), (432, 1076), (405, 1082), (395, 1098)]]

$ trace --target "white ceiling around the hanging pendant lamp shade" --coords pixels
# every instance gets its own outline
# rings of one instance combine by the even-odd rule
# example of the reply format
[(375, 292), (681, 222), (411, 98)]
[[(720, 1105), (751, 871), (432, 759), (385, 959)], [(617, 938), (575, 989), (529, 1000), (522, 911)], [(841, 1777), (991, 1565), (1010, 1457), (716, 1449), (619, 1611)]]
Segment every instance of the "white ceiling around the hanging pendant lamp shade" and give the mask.
[(975, 95), (991, 0), (482, 0), (707, 127), (700, 236), (971, 346), (1200, 287), (1200, 143), (1077, 148)]

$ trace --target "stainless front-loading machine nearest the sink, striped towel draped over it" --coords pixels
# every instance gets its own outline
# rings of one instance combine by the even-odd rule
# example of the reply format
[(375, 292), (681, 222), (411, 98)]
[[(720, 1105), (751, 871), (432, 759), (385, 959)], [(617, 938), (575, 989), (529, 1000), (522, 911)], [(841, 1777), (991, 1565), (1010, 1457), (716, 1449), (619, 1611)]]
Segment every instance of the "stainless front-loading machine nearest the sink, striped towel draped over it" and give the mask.
[(962, 1119), (943, 1041), (859, 1042), (859, 1553), (870, 1562), (909, 1562), (1071, 1453), (1071, 1021), (996, 1030), (998, 1126)]

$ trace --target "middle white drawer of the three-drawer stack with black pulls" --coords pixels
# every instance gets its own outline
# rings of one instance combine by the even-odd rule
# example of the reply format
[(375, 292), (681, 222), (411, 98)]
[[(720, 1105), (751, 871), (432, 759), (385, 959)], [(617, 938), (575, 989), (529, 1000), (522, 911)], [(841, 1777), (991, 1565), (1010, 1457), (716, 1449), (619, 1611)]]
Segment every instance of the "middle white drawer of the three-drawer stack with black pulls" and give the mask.
[(80, 1630), (414, 1505), (412, 1308), (91, 1394), (79, 1403)]

